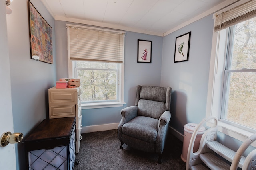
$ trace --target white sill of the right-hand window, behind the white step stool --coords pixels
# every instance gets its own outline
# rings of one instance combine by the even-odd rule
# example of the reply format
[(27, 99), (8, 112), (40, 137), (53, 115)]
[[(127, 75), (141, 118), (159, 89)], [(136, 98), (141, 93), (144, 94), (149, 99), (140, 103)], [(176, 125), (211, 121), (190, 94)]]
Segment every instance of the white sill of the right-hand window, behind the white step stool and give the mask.
[[(206, 123), (207, 126), (212, 127), (214, 125), (213, 121), (208, 121)], [(254, 133), (250, 131), (246, 131), (244, 129), (240, 129), (238, 127), (229, 125), (227, 123), (218, 121), (218, 131), (221, 133), (224, 133), (225, 135), (228, 135), (230, 137), (233, 137), (239, 141), (244, 142), (248, 137), (253, 135)], [(256, 141), (254, 141), (251, 146), (256, 147)]]

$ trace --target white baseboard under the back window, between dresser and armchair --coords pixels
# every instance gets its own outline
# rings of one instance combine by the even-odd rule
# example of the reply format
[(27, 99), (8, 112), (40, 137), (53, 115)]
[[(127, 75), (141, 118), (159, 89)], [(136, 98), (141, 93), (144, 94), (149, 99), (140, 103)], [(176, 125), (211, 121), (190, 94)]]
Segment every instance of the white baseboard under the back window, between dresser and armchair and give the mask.
[(110, 123), (110, 124), (104, 124), (104, 125), (85, 126), (85, 127), (82, 127), (81, 133), (108, 131), (112, 129), (117, 129), (118, 125), (119, 123)]

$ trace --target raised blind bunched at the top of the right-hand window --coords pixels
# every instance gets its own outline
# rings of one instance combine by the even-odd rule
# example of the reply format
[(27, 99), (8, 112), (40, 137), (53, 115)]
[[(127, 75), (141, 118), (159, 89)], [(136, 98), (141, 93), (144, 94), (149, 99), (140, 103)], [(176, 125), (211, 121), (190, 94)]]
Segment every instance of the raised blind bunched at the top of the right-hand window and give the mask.
[(256, 0), (251, 0), (230, 10), (216, 13), (214, 32), (220, 31), (256, 16)]

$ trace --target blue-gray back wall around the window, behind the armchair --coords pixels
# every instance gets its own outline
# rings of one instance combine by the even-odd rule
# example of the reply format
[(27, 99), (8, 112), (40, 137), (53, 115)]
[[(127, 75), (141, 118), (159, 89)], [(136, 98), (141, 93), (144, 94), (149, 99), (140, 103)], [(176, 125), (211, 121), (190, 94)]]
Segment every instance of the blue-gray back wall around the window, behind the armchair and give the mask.
[[(57, 79), (68, 77), (67, 29), (65, 21), (55, 21)], [(69, 23), (81, 25), (77, 23)], [(88, 25), (84, 25), (88, 26)], [(152, 63), (137, 63), (137, 40), (152, 41)], [(163, 37), (126, 31), (124, 49), (124, 107), (135, 104), (135, 87), (160, 86)], [(82, 126), (118, 123), (124, 107), (83, 109)]]

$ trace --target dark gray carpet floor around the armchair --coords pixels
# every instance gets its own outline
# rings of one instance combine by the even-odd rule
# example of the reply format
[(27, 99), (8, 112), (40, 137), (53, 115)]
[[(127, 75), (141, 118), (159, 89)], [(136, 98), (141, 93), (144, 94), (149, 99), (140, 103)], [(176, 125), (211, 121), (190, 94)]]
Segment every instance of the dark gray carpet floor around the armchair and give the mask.
[(180, 155), (182, 142), (168, 135), (163, 152), (162, 164), (158, 164), (158, 155), (142, 152), (124, 144), (120, 149), (117, 130), (100, 131), (82, 134), (79, 163), (75, 170), (185, 170)]

